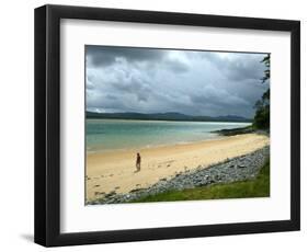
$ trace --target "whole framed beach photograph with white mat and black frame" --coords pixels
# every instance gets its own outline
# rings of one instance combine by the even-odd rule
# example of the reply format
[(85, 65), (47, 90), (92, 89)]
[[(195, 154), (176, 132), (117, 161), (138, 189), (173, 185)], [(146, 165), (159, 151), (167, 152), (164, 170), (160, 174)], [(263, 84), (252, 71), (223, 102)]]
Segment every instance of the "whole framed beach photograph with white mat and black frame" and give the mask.
[(300, 228), (300, 23), (35, 9), (35, 242)]

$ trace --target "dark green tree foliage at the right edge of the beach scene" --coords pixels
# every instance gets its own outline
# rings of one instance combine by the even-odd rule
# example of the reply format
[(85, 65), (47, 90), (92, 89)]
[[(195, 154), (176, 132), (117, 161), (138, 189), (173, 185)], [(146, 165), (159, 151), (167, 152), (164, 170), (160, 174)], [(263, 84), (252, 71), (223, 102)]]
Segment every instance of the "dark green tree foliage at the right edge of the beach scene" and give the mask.
[[(262, 83), (271, 78), (271, 56), (267, 54), (261, 61), (265, 65), (264, 76), (261, 79)], [(253, 126), (258, 129), (270, 129), (270, 88), (263, 93), (262, 98), (256, 101), (255, 115), (253, 118)]]

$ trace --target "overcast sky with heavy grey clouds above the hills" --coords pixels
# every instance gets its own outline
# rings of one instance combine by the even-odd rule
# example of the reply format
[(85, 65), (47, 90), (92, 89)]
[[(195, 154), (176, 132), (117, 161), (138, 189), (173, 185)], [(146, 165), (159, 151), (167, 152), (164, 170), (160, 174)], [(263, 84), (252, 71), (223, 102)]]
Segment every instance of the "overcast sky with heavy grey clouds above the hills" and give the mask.
[(253, 117), (264, 56), (88, 45), (87, 111)]

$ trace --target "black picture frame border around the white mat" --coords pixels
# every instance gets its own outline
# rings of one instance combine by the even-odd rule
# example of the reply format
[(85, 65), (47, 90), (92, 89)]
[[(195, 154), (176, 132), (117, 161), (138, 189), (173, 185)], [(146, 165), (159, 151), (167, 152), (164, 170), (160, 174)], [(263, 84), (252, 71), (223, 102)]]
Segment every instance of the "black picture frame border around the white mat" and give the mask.
[[(119, 21), (290, 32), (290, 219), (60, 233), (60, 20)], [(45, 247), (293, 231), (300, 229), (300, 22), (44, 5), (35, 9), (35, 242)]]

